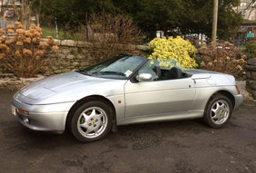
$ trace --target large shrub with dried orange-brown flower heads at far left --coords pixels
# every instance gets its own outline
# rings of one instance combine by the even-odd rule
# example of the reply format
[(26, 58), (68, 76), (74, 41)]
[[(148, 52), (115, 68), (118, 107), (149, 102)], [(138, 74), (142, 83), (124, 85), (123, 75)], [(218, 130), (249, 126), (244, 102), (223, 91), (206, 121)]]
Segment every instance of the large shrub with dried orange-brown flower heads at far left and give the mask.
[(48, 58), (45, 53), (57, 50), (53, 37), (42, 41), (42, 29), (31, 24), (29, 30), (24, 30), (20, 22), (0, 29), (0, 60), (4, 67), (14, 72), (17, 77), (34, 77), (37, 72), (48, 69), (45, 66)]

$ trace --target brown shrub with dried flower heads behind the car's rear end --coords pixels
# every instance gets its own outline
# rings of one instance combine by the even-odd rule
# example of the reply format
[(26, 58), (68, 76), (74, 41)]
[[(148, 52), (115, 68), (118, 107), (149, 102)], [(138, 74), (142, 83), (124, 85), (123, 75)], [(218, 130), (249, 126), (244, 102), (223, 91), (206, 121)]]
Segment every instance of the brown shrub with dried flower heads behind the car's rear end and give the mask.
[(200, 68), (204, 70), (232, 74), (237, 79), (245, 74), (243, 65), (246, 63), (246, 55), (241, 55), (240, 51), (229, 42), (202, 46), (199, 53)]

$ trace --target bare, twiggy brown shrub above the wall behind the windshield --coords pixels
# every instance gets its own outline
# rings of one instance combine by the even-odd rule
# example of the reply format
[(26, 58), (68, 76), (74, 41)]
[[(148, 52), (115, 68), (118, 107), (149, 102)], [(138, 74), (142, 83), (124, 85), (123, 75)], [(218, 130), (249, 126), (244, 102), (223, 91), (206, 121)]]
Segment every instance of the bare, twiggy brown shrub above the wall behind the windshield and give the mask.
[(129, 44), (141, 43), (143, 39), (133, 20), (122, 15), (92, 14), (86, 24), (85, 40), (96, 45), (94, 57), (99, 61), (129, 53)]

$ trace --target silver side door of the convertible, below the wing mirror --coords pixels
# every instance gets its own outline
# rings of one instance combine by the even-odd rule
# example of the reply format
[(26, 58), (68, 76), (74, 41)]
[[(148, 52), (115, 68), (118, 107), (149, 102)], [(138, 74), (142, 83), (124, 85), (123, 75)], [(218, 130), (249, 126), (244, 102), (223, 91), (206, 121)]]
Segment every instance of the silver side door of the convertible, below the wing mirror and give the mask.
[[(153, 73), (150, 68), (141, 72)], [(157, 81), (155, 76), (150, 82), (125, 83), (125, 118), (190, 110), (195, 97), (191, 78)]]

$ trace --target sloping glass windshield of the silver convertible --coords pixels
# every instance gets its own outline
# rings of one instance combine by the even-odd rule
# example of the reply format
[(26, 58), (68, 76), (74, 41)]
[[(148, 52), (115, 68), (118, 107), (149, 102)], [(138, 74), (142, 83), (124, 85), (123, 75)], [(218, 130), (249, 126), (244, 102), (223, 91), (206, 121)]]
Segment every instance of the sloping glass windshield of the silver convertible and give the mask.
[(100, 62), (77, 72), (94, 77), (125, 80), (143, 61), (140, 56), (119, 54), (105, 62)]

